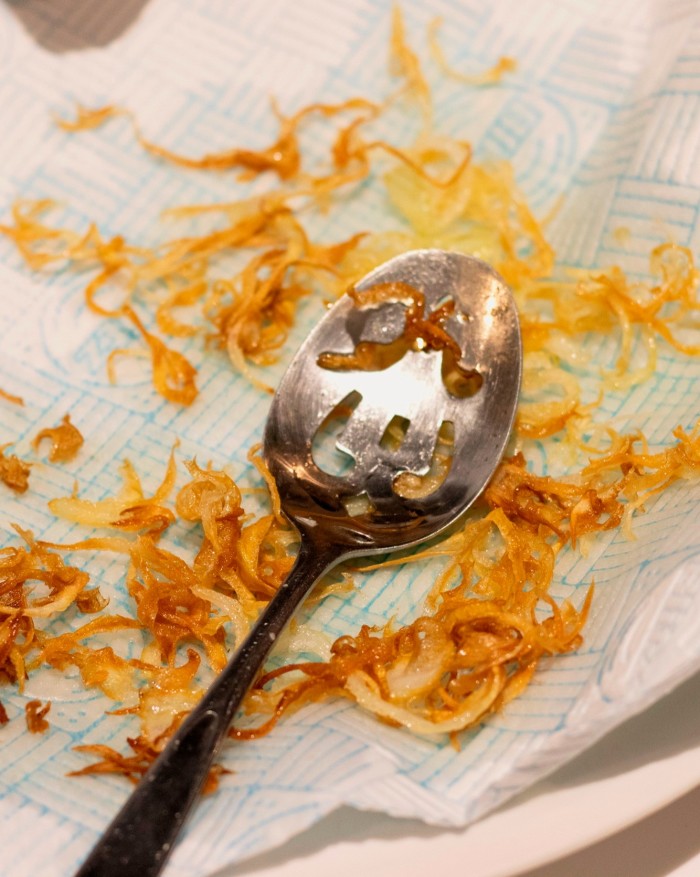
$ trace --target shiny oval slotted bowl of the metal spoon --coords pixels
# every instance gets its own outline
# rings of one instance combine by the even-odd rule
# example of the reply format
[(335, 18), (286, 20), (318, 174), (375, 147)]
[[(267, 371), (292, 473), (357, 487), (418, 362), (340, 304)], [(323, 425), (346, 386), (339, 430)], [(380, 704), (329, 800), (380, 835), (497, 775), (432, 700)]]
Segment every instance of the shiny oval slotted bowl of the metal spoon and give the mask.
[[(285, 513), (300, 527), (313, 522), (328, 538), (357, 553), (406, 547), (439, 533), (483, 490), (501, 459), (520, 387), (521, 341), (510, 290), (485, 262), (441, 250), (398, 256), (355, 286), (358, 292), (402, 284), (418, 290), (426, 310), (446, 302), (454, 313), (445, 329), (479, 388), (465, 398), (441, 377), (441, 351), (408, 350), (381, 371), (331, 370), (318, 365), (329, 351), (349, 354), (358, 344), (392, 343), (404, 331), (405, 308), (386, 300), (359, 310), (344, 296), (300, 348), (270, 408), (264, 456)], [(314, 459), (315, 435), (346, 400), (354, 410), (338, 445), (348, 472), (324, 471)], [(382, 446), (392, 420), (404, 421), (400, 447)], [(403, 473), (424, 475), (442, 424), (453, 432), (449, 472), (434, 491), (408, 498), (394, 490)], [(365, 497), (365, 511), (350, 514)], [(353, 551), (353, 553), (355, 553)]]

